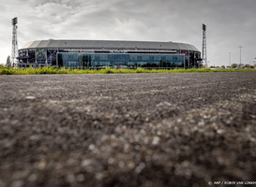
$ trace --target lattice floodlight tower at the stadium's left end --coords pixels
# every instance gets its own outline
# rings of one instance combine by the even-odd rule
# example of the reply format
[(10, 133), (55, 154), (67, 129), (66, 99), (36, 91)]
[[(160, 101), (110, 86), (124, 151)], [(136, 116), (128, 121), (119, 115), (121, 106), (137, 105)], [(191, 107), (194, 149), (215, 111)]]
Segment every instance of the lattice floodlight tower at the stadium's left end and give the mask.
[(13, 18), (11, 22), (12, 22), (11, 65), (14, 66), (15, 64), (17, 64), (17, 57), (18, 57), (18, 37), (17, 37), (18, 18), (17, 17)]

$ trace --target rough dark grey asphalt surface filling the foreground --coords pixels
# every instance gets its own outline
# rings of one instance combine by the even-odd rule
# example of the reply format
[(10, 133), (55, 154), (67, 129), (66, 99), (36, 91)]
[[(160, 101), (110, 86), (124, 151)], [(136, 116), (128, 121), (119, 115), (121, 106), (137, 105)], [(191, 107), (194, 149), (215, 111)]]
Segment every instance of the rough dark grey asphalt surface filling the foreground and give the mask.
[(0, 187), (255, 176), (255, 72), (0, 76)]

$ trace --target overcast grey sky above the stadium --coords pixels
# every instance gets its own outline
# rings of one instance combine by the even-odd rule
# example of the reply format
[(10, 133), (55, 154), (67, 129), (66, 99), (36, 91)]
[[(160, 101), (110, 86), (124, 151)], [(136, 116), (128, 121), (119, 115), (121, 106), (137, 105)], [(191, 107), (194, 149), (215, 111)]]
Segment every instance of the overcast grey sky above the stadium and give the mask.
[(11, 53), (11, 18), (19, 48), (40, 39), (175, 41), (202, 50), (207, 25), (210, 65), (256, 58), (256, 0), (0, 0), (0, 64)]

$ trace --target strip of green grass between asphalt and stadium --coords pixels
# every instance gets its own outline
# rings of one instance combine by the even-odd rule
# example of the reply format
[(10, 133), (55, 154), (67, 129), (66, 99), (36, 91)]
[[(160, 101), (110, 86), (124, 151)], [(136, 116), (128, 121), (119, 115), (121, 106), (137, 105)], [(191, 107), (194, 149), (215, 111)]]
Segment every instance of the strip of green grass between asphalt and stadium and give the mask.
[(116, 69), (106, 67), (104, 69), (69, 69), (56, 67), (42, 67), (42, 68), (8, 68), (0, 67), (0, 75), (38, 75), (38, 74), (120, 74), (120, 73), (197, 73), (197, 72), (248, 72), (256, 71), (256, 69)]

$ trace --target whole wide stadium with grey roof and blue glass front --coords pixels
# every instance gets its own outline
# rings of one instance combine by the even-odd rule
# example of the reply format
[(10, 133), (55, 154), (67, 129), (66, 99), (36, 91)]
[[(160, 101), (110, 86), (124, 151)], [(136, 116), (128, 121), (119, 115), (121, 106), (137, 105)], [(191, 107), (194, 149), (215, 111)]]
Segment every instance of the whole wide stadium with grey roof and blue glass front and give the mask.
[(202, 65), (194, 46), (175, 42), (38, 40), (19, 50), (17, 67), (191, 68)]

